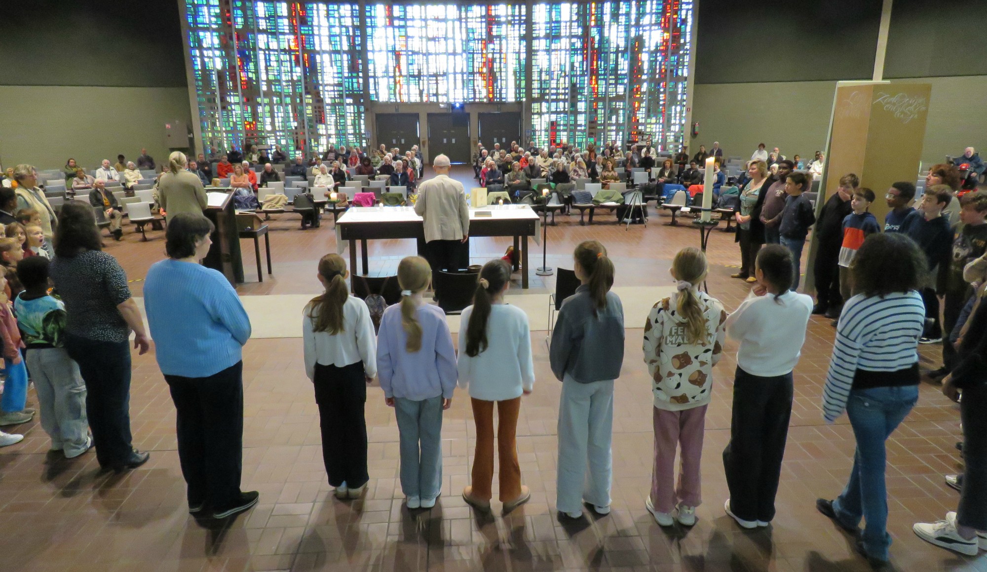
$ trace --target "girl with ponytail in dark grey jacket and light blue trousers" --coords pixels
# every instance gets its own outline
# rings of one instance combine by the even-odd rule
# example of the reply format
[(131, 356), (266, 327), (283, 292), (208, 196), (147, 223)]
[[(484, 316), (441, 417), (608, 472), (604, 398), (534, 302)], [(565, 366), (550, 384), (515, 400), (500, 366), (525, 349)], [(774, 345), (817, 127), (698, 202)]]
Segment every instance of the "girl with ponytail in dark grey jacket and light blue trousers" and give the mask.
[(610, 512), (614, 380), (624, 362), (624, 307), (610, 291), (614, 264), (603, 245), (586, 241), (572, 257), (582, 284), (559, 311), (549, 361), (562, 382), (556, 508), (578, 519), (583, 502), (597, 514)]

